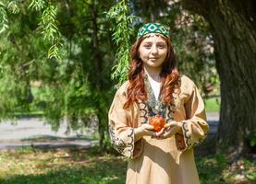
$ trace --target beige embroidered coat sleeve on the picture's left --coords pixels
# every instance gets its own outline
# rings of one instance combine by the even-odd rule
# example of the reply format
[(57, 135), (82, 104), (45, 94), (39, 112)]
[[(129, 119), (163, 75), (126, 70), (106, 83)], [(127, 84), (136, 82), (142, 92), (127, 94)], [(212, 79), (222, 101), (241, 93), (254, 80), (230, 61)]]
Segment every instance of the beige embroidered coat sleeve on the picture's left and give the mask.
[(134, 127), (130, 123), (129, 109), (123, 109), (126, 93), (118, 89), (108, 113), (111, 144), (122, 155), (134, 158), (141, 153), (141, 140), (134, 143)]

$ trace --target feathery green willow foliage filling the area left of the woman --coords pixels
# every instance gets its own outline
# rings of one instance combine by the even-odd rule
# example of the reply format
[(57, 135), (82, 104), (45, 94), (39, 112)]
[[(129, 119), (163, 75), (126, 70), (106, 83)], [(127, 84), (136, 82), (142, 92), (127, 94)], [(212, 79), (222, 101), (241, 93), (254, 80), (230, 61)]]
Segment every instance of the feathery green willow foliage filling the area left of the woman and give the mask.
[[(41, 106), (55, 130), (63, 120), (67, 132), (96, 120), (104, 146), (115, 48), (104, 12), (113, 4), (0, 0), (0, 120)], [(41, 84), (33, 99), (32, 81)]]

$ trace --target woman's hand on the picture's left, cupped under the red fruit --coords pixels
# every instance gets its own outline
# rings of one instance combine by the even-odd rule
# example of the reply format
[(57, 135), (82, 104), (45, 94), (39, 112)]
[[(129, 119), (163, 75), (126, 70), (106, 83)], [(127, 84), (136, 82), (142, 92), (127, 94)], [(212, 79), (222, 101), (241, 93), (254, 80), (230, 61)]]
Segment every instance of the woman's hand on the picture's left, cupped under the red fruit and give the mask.
[(164, 134), (165, 129), (163, 128), (160, 132), (153, 131), (153, 126), (150, 124), (141, 124), (140, 127), (134, 129), (135, 142), (140, 140), (143, 136), (149, 135), (154, 137), (160, 137)]

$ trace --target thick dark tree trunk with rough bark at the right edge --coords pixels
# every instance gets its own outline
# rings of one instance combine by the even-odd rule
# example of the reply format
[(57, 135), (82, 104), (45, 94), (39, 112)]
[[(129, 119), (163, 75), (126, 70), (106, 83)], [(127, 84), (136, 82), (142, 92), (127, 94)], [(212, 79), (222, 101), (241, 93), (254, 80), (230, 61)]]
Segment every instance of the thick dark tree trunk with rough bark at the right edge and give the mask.
[(252, 1), (183, 0), (182, 3), (205, 17), (213, 34), (221, 80), (217, 151), (232, 159), (247, 154), (247, 132), (256, 130), (256, 11)]

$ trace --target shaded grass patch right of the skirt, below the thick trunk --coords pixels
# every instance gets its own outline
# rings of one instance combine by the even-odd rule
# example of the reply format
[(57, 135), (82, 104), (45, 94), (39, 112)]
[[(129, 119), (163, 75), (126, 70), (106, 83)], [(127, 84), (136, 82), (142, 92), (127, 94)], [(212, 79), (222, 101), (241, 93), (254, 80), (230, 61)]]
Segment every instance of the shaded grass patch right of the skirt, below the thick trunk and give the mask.
[(196, 158), (201, 184), (252, 184), (256, 182), (256, 162), (241, 158), (231, 166), (223, 155)]

